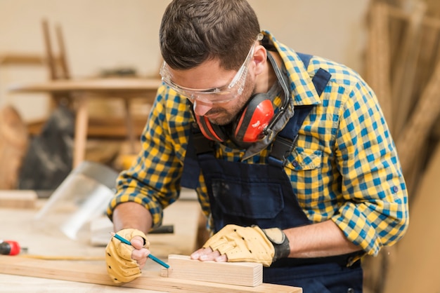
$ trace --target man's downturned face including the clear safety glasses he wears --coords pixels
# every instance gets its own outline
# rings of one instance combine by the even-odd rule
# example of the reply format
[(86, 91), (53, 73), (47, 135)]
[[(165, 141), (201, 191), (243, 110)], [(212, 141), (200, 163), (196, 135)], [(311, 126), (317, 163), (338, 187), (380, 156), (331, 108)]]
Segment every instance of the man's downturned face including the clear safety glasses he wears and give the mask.
[(225, 70), (220, 60), (210, 59), (198, 67), (185, 70), (171, 69), (166, 62), (160, 69), (162, 81), (193, 103), (196, 115), (206, 116), (211, 123), (226, 125), (233, 121), (238, 112), (254, 93), (256, 81), (252, 76), (254, 52), (257, 41), (247, 53), (240, 69)]

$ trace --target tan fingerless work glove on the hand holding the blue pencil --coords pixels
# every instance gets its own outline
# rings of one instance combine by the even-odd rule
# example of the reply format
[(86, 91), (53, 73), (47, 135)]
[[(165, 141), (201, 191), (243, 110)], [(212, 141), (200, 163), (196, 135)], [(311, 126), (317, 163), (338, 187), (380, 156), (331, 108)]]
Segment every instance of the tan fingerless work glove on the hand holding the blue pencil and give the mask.
[[(117, 232), (119, 236), (131, 241), (134, 236), (141, 236), (143, 238), (143, 247), (147, 248), (150, 243), (145, 236), (145, 233), (136, 229), (122, 229)], [(110, 239), (107, 247), (105, 247), (105, 262), (107, 263), (107, 273), (112, 278), (113, 282), (130, 282), (141, 275), (141, 269), (134, 259), (131, 259), (131, 252), (134, 247), (122, 243), (115, 237)]]

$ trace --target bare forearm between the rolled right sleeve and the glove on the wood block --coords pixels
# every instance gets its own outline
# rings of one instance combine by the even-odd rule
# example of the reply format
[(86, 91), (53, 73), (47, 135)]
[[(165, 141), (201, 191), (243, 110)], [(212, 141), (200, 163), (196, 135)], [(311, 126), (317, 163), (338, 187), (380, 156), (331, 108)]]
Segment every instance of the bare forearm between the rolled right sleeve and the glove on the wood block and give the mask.
[(290, 242), (289, 257), (329, 257), (361, 250), (332, 220), (286, 229), (284, 233)]

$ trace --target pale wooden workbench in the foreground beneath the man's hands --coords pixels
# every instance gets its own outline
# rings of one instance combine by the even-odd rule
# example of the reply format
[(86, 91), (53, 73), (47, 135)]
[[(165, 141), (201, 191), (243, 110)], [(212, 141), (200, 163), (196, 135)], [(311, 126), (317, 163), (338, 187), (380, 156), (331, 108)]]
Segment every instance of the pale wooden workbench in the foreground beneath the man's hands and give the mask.
[[(147, 261), (141, 277), (122, 287), (116, 286), (105, 271), (104, 246), (93, 246), (84, 238), (67, 238), (53, 220), (34, 221), (45, 202), (40, 199), (35, 207), (27, 209), (0, 207), (1, 237), (27, 247), (26, 254), (0, 255), (1, 292), (141, 292), (141, 289), (142, 292), (302, 292), (299, 287), (264, 283), (249, 286), (168, 278), (160, 273), (162, 266), (154, 261)], [(195, 240), (199, 214), (195, 193), (184, 190), (181, 198), (164, 210), (163, 224), (172, 224), (174, 233), (149, 234), (151, 252), (162, 261), (167, 261), (169, 254), (191, 254), (198, 248)]]

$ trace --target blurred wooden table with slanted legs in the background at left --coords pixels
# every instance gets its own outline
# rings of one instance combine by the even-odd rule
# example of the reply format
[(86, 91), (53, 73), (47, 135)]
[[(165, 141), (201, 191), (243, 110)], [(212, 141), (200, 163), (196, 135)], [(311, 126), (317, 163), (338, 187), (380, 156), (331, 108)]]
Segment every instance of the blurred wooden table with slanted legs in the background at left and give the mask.
[[(129, 140), (134, 144), (134, 130), (129, 112), (129, 100), (145, 97), (153, 103), (160, 79), (143, 78), (101, 78), (101, 79), (66, 79), (46, 81), (43, 83), (27, 83), (9, 88), (15, 93), (69, 93), (77, 102), (75, 121), (75, 146), (73, 167), (84, 161), (86, 150), (87, 127), (89, 123), (88, 100), (90, 97), (122, 98), (127, 111), (127, 130)], [(132, 147), (132, 149), (134, 149)]]

